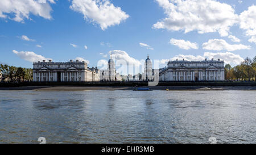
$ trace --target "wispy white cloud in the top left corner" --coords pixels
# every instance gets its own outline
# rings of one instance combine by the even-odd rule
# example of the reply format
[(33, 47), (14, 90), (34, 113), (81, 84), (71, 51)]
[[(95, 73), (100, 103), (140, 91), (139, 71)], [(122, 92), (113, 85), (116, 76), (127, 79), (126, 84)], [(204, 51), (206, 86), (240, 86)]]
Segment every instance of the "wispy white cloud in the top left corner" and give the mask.
[[(48, 0), (53, 3), (53, 0)], [(52, 8), (47, 1), (44, 3), (34, 0), (1, 0), (0, 18), (9, 18), (16, 22), (24, 22), (30, 19), (30, 14), (42, 16), (45, 19), (52, 19)], [(14, 15), (14, 18), (11, 16)]]

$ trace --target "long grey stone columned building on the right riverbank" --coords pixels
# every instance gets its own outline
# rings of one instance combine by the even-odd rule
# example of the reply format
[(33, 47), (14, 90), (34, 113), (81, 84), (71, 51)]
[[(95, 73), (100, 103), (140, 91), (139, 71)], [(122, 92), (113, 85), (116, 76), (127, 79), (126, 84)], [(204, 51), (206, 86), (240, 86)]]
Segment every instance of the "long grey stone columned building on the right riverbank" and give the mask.
[(159, 69), (159, 81), (224, 81), (224, 61), (169, 61)]

